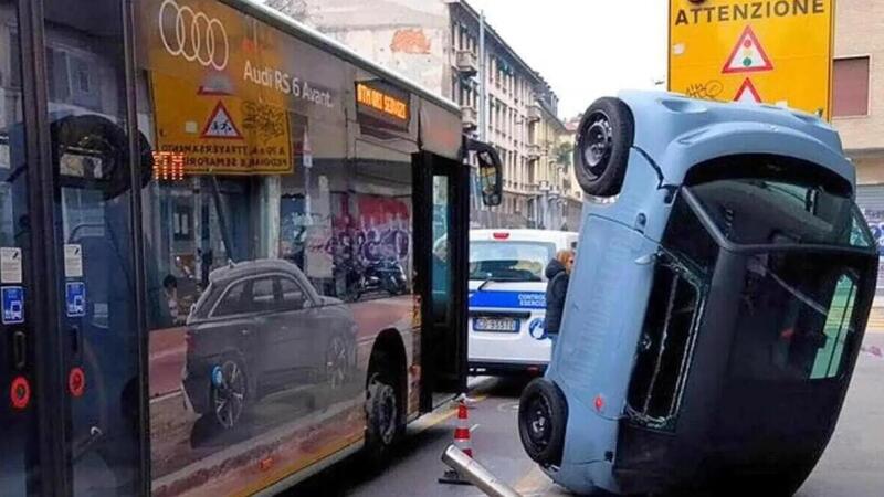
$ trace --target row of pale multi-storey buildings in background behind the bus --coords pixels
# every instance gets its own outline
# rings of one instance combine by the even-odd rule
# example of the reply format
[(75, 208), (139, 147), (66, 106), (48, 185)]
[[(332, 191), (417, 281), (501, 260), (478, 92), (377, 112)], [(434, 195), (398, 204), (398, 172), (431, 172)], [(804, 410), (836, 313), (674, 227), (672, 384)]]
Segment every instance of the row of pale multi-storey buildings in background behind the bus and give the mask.
[(474, 225), (577, 229), (567, 222), (568, 200), (579, 199), (566, 194), (558, 97), (466, 1), (267, 4), (461, 105), (464, 130), (493, 145), (504, 163), (503, 203), (485, 208), (473, 195)]

